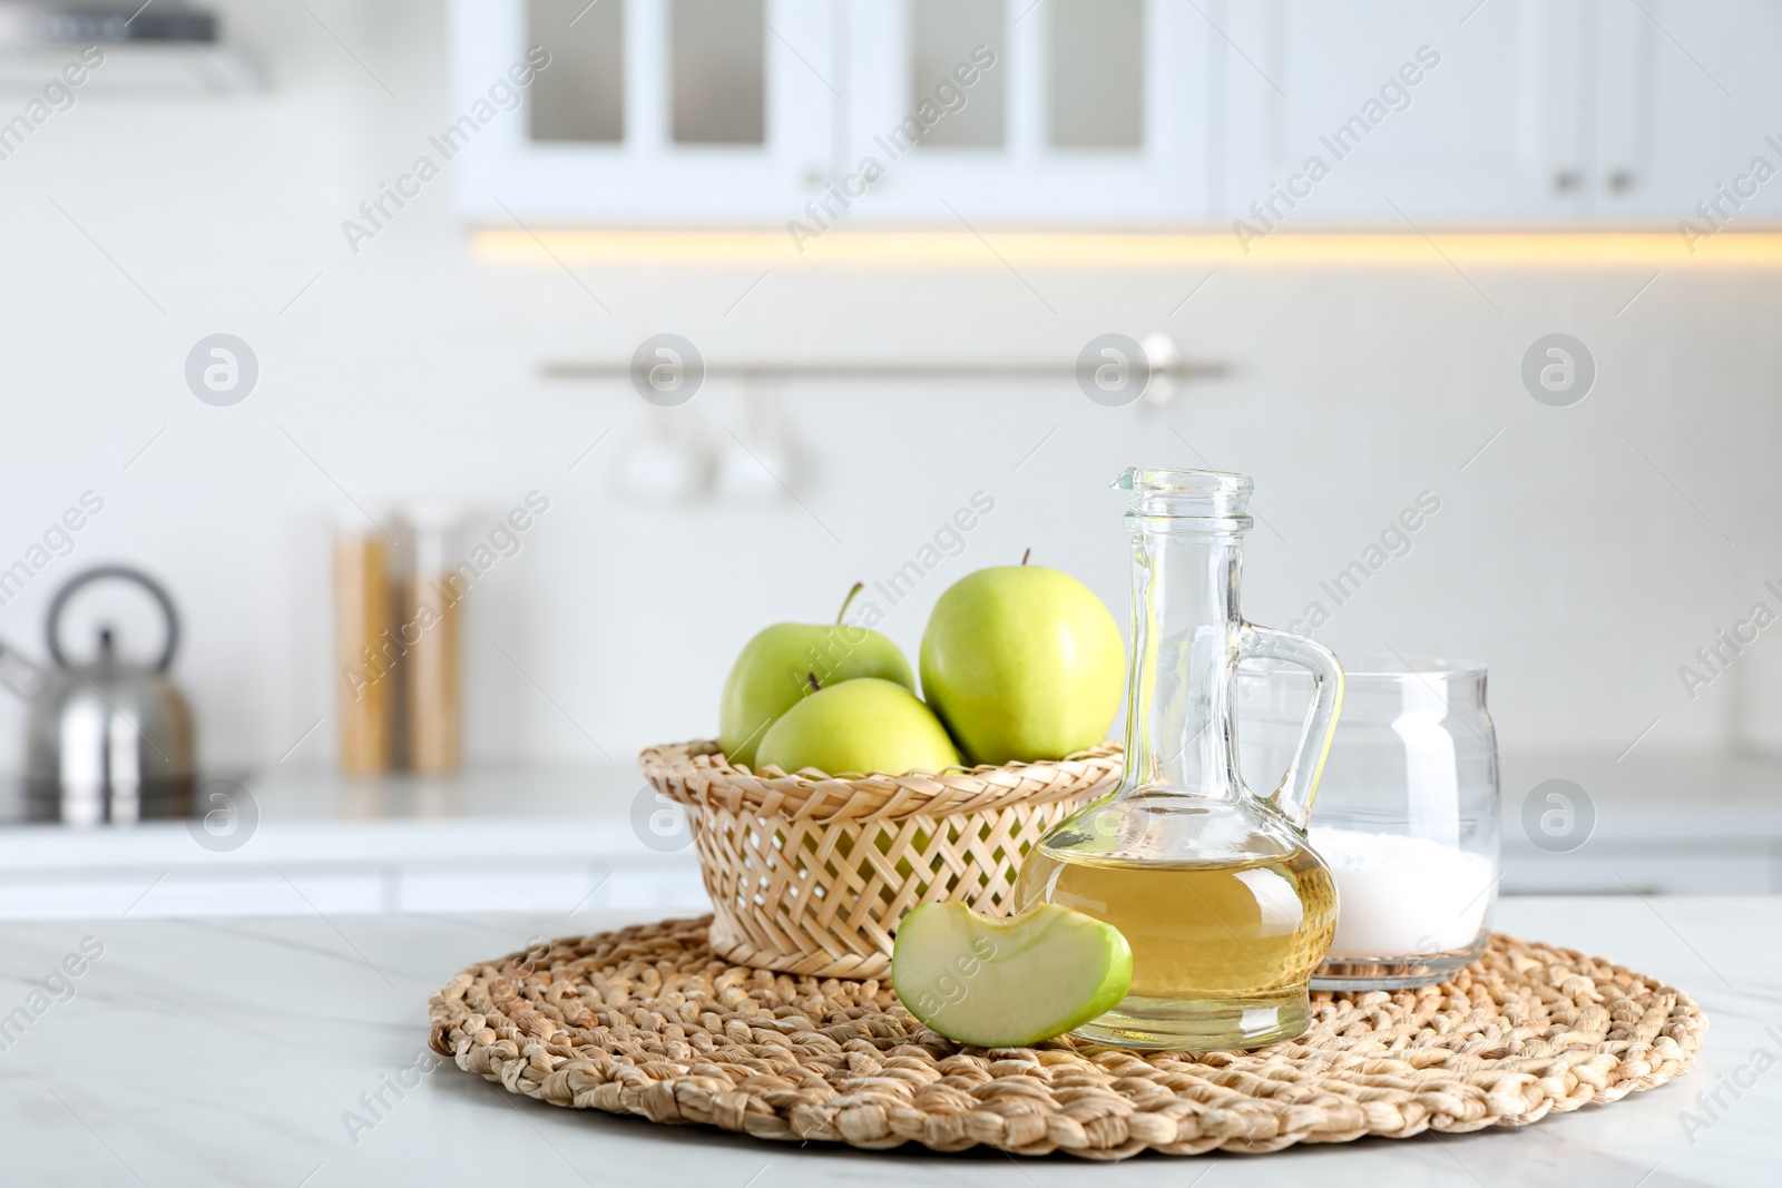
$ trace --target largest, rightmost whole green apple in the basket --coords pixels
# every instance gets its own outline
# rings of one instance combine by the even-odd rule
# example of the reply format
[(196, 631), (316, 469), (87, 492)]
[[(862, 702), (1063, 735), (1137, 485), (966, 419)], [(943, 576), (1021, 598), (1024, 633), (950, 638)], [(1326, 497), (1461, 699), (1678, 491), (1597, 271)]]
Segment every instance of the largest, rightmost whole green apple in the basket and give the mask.
[(1101, 598), (1039, 565), (966, 574), (921, 636), (921, 693), (973, 764), (1094, 746), (1124, 682), (1126, 650)]

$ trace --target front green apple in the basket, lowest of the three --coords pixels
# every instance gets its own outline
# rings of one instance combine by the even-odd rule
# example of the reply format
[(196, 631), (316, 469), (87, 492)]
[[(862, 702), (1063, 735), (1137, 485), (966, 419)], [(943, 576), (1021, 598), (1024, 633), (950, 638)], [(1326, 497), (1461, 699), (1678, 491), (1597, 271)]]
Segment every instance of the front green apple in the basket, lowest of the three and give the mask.
[(759, 766), (825, 775), (903, 775), (959, 766), (946, 727), (895, 680), (855, 677), (818, 689), (779, 716), (756, 752)]

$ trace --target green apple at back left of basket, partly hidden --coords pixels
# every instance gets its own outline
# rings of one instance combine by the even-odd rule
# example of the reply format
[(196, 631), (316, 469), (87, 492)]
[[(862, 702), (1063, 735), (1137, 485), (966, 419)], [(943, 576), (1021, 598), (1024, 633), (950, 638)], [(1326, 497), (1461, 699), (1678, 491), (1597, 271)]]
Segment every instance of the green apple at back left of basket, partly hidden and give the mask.
[[(841, 604), (862, 588), (855, 582)], [(834, 623), (773, 623), (743, 645), (731, 666), (718, 707), (718, 745), (732, 764), (756, 766), (756, 748), (768, 727), (798, 704), (816, 686), (830, 686), (857, 677), (895, 680), (911, 693), (916, 677), (903, 650), (866, 627)]]

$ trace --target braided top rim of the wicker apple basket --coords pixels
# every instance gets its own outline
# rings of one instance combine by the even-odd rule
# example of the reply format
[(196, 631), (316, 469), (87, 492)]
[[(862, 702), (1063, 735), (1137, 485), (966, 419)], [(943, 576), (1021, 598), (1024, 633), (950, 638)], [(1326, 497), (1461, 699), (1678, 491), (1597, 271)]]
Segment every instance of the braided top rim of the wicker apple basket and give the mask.
[(1112, 739), (1064, 759), (852, 778), (814, 768), (786, 773), (775, 766), (761, 771), (731, 766), (715, 739), (663, 743), (638, 755), (643, 777), (679, 803), (818, 821), (952, 816), (1046, 803), (1101, 784), (1112, 791), (1123, 761), (1124, 752)]

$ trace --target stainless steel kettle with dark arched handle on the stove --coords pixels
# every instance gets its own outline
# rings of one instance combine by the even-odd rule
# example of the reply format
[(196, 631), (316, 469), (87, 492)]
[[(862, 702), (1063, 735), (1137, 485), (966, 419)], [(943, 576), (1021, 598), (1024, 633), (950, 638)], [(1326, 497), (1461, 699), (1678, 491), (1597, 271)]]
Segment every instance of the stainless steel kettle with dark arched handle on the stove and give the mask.
[[(62, 609), (77, 590), (103, 579), (135, 582), (160, 606), (168, 638), (155, 664), (119, 659), (110, 627), (100, 629), (96, 659), (68, 659)], [(123, 565), (77, 574), (50, 600), (45, 638), (53, 659), (48, 670), (0, 643), (0, 682), (30, 702), (27, 816), (64, 825), (191, 816), (192, 712), (166, 675), (180, 645), (180, 618), (160, 582)]]

